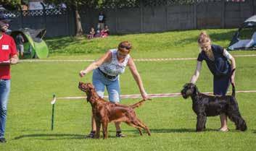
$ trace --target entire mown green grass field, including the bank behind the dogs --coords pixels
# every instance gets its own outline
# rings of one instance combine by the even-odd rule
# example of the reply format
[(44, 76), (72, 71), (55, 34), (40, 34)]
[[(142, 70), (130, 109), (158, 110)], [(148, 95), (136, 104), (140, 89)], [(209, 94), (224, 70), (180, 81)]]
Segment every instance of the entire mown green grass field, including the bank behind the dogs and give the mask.
[[(235, 30), (207, 30), (213, 43), (228, 46)], [(195, 58), (199, 53), (199, 30), (115, 35), (104, 39), (78, 40), (55, 38), (46, 40), (50, 47), (49, 59), (96, 59), (107, 49), (115, 48), (122, 40), (133, 43), (131, 56), (141, 58)], [(255, 51), (232, 51), (233, 55), (256, 54)], [(110, 124), (110, 138), (85, 139), (90, 131), (91, 106), (86, 100), (57, 100), (54, 131), (51, 131), (51, 99), (83, 96), (78, 82), (91, 82), (91, 74), (84, 78), (78, 72), (88, 62), (22, 62), (12, 66), (12, 91), (7, 119), (7, 144), (3, 151), (38, 150), (255, 150), (256, 147), (256, 93), (237, 93), (239, 108), (247, 121), (248, 130), (239, 132), (228, 121), (231, 131), (219, 132), (218, 116), (208, 118), (207, 130), (194, 131), (196, 116), (191, 110), (191, 99), (154, 98), (136, 109), (137, 116), (149, 126), (152, 136), (122, 124), (125, 138), (115, 138), (115, 127)], [(196, 61), (139, 62), (139, 69), (148, 93), (180, 92), (189, 82)], [(236, 90), (256, 90), (256, 57), (236, 57)], [(139, 90), (127, 69), (120, 76), (121, 92), (138, 94)], [(212, 75), (204, 63), (197, 82), (201, 92), (212, 91)], [(107, 95), (107, 94), (106, 94)], [(139, 99), (124, 99), (131, 104)]]

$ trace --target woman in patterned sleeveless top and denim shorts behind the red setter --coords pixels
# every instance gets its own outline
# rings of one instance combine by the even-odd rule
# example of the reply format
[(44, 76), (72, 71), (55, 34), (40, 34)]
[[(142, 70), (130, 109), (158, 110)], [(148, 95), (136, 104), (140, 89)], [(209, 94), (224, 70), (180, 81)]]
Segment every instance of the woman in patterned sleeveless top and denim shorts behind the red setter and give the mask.
[[(131, 43), (128, 41), (123, 41), (118, 45), (118, 48), (111, 49), (107, 51), (102, 58), (91, 63), (86, 69), (80, 71), (80, 77), (85, 76), (88, 72), (93, 72), (92, 82), (96, 89), (97, 94), (103, 98), (105, 87), (107, 87), (107, 92), (109, 93), (109, 100), (111, 103), (120, 102), (120, 81), (119, 74), (125, 72), (125, 67), (129, 66), (131, 74), (135, 79), (139, 90), (141, 92), (141, 97), (146, 100), (147, 94), (144, 89), (141, 76), (136, 69), (133, 59), (130, 56)], [(120, 122), (115, 123), (116, 127), (116, 137), (125, 137), (121, 133)], [(91, 133), (88, 134), (88, 138), (94, 138), (96, 132), (96, 123), (94, 117), (91, 117)]]

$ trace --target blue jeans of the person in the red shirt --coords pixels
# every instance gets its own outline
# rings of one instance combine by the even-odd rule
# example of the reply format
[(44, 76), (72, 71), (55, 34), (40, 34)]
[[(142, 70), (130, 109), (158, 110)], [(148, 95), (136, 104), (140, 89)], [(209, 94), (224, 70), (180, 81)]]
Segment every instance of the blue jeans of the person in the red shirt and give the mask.
[(0, 79), (0, 138), (4, 137), (10, 86), (11, 80)]

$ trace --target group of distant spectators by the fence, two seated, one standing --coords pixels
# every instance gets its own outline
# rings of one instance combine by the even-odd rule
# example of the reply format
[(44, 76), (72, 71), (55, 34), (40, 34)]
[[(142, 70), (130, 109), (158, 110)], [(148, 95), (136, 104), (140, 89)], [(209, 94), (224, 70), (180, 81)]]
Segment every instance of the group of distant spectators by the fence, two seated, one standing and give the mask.
[(100, 12), (97, 30), (95, 31), (94, 27), (91, 27), (90, 33), (87, 35), (87, 38), (105, 38), (110, 35), (110, 29), (107, 25), (104, 25), (104, 22), (105, 16), (102, 12)]

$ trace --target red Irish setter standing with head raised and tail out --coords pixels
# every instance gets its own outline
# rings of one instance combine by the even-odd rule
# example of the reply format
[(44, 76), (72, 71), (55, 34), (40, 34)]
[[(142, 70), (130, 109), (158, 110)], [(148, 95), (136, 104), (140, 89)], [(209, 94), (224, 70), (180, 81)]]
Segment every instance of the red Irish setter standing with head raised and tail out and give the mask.
[(92, 113), (96, 121), (96, 138), (99, 139), (99, 131), (102, 124), (103, 138), (107, 139), (107, 124), (111, 121), (123, 121), (135, 127), (142, 135), (141, 129), (150, 134), (149, 128), (136, 117), (133, 108), (139, 107), (145, 100), (141, 100), (133, 105), (120, 105), (110, 103), (97, 95), (94, 85), (91, 83), (79, 82), (78, 88), (86, 92), (87, 102), (91, 103)]

